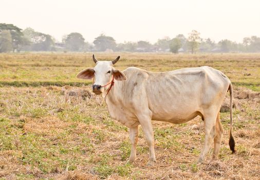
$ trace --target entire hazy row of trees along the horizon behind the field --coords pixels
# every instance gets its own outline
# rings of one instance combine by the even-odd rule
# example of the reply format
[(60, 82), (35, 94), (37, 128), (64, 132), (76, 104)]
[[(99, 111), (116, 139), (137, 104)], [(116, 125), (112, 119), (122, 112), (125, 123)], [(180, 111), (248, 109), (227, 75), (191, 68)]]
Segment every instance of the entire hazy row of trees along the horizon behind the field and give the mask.
[(243, 43), (227, 39), (215, 42), (200, 38), (200, 33), (192, 30), (188, 37), (178, 34), (173, 39), (158, 39), (154, 44), (147, 41), (116, 43), (113, 37), (105, 34), (89, 43), (81, 33), (72, 32), (58, 42), (51, 35), (32, 28), (22, 30), (13, 24), (0, 23), (0, 52), (10, 51), (260, 52), (260, 38), (246, 37)]

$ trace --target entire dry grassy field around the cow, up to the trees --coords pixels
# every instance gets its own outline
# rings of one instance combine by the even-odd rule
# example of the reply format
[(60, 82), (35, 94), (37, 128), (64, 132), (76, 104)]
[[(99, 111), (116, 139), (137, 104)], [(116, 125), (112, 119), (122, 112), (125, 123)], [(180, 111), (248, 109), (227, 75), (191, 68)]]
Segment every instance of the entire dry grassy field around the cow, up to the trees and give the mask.
[[(97, 53), (113, 60), (117, 53)], [(116, 68), (151, 71), (208, 65), (234, 87), (235, 154), (228, 146), (229, 111), (220, 157), (196, 165), (203, 121), (153, 121), (157, 163), (146, 166), (148, 147), (139, 127), (137, 159), (127, 163), (128, 129), (111, 119), (91, 81), (76, 79), (93, 67), (90, 53), (0, 54), (0, 179), (259, 179), (260, 54), (172, 55), (121, 53)], [(228, 99), (227, 95), (227, 99)]]

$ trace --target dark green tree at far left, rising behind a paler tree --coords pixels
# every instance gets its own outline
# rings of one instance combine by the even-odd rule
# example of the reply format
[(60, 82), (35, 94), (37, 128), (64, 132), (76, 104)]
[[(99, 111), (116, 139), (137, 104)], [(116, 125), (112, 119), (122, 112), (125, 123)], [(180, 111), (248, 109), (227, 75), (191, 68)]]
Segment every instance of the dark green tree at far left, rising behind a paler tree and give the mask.
[(26, 43), (24, 42), (22, 29), (14, 26), (13, 24), (0, 23), (0, 32), (9, 30), (12, 36), (12, 50), (20, 51), (21, 47)]

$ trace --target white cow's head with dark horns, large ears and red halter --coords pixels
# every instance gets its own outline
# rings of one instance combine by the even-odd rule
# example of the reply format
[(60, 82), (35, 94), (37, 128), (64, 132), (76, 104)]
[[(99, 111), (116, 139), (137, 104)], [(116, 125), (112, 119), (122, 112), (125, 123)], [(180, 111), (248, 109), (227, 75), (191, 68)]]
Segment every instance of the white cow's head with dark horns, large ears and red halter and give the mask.
[[(118, 56), (114, 61), (98, 61), (93, 55), (93, 61), (96, 63), (94, 69), (87, 68), (82, 70), (77, 78), (80, 79), (92, 79), (95, 77), (95, 82), (92, 86), (92, 91), (96, 95), (100, 95), (104, 93), (104, 91), (109, 88), (109, 86), (104, 86), (112, 81), (113, 76), (117, 81), (125, 81), (125, 75), (118, 69), (113, 67), (114, 64), (119, 60), (120, 56)], [(104, 86), (104, 87), (103, 87)]]

